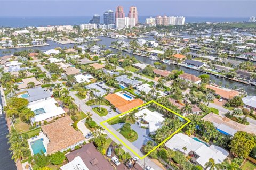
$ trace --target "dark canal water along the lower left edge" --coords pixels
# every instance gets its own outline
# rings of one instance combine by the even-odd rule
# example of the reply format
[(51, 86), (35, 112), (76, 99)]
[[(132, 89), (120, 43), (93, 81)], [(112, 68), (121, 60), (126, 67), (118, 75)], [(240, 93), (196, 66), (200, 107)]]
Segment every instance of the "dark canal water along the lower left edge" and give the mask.
[[(2, 100), (0, 97), (0, 103), (2, 104)], [(0, 114), (0, 169), (3, 170), (14, 170), (17, 169), (15, 162), (11, 159), (12, 155), (10, 155), (11, 151), (8, 150), (10, 145), (7, 143), (6, 135), (9, 133), (7, 128), (7, 122), (5, 120), (4, 114)]]

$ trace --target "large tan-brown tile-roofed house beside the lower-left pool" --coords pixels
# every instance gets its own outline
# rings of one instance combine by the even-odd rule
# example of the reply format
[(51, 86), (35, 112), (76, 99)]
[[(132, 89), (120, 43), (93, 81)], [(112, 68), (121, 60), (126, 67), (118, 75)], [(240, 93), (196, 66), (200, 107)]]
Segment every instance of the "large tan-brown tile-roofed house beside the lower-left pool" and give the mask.
[(73, 123), (69, 116), (65, 116), (58, 118), (53, 123), (41, 126), (43, 133), (50, 141), (46, 149), (47, 154), (63, 152), (68, 149), (74, 150), (75, 146), (83, 145), (85, 138), (80, 131), (76, 131), (71, 126)]

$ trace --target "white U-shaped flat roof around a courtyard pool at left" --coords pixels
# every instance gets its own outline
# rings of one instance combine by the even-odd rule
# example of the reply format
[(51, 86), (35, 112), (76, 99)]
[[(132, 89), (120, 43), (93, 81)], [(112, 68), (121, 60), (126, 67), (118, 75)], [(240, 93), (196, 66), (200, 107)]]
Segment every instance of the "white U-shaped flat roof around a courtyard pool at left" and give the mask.
[(55, 104), (57, 101), (54, 98), (49, 100), (38, 101), (37, 103), (32, 103), (28, 105), (28, 108), (31, 111), (36, 111), (38, 109), (44, 109), (45, 113), (38, 114), (34, 118), (32, 118), (33, 122), (41, 122), (47, 120), (48, 118), (55, 117), (65, 113), (65, 111), (61, 107), (57, 107)]

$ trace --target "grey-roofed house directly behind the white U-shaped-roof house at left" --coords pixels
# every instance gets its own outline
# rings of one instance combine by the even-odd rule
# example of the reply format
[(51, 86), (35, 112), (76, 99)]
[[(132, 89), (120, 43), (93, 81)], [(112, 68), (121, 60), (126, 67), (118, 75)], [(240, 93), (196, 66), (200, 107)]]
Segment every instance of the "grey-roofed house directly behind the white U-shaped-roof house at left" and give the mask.
[(29, 103), (47, 100), (51, 98), (51, 94), (47, 89), (41, 86), (25, 89), (17, 92), (18, 97), (26, 98)]

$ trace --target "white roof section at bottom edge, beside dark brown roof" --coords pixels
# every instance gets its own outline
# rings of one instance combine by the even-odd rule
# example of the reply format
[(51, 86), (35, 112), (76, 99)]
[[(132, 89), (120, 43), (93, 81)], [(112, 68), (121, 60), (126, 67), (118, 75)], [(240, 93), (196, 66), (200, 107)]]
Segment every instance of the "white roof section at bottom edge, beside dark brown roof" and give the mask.
[(69, 163), (60, 167), (61, 170), (89, 170), (80, 156), (75, 157)]

